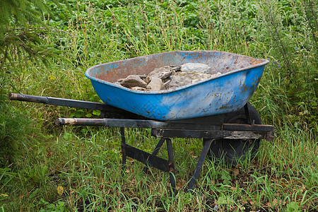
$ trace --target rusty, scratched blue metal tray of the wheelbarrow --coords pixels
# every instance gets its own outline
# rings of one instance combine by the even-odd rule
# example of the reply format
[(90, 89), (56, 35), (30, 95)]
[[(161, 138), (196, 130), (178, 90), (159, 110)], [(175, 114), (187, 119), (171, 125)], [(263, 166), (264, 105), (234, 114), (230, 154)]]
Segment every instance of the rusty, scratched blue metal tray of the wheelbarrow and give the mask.
[[(240, 110), (257, 88), (268, 62), (228, 52), (175, 51), (100, 64), (85, 74), (106, 104), (151, 119), (175, 120)], [(162, 66), (186, 63), (207, 64), (211, 74), (221, 75), (160, 91), (131, 90), (114, 83), (131, 74), (145, 75)]]

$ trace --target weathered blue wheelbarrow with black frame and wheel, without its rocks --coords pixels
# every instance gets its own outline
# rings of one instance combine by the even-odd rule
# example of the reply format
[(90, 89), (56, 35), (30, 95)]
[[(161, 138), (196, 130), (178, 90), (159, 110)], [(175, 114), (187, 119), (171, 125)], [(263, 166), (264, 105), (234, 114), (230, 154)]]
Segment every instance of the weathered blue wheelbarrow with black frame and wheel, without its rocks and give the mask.
[[(161, 66), (185, 63), (211, 66), (216, 78), (170, 90), (131, 90), (114, 83), (131, 74), (146, 74)], [(257, 110), (247, 102), (257, 88), (269, 61), (216, 51), (165, 52), (93, 66), (86, 76), (105, 103), (11, 93), (9, 99), (48, 105), (100, 110), (100, 119), (59, 118), (57, 125), (114, 126), (122, 135), (122, 168), (126, 157), (170, 173), (175, 193), (175, 160), (171, 138), (203, 139), (204, 147), (189, 181), (192, 191), (206, 156), (235, 165), (248, 152), (256, 153), (261, 139), (272, 140), (274, 127), (261, 124)], [(160, 138), (152, 153), (127, 144), (124, 128), (150, 128)], [(157, 156), (166, 142), (168, 158)]]

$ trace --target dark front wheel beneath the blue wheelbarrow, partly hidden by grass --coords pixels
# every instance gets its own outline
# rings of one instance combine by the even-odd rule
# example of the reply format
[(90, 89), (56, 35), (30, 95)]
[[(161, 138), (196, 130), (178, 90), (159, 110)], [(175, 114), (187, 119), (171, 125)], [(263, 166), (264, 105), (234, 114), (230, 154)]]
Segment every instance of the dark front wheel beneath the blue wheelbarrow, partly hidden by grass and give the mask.
[[(252, 105), (248, 104), (249, 116), (254, 124), (261, 124), (259, 113)], [(225, 114), (224, 123), (247, 124), (245, 108)], [(207, 139), (204, 139), (204, 143)], [(245, 160), (247, 155), (255, 155), (259, 148), (259, 139), (216, 139), (211, 143), (209, 158), (219, 158), (225, 164), (235, 166), (240, 160)]]

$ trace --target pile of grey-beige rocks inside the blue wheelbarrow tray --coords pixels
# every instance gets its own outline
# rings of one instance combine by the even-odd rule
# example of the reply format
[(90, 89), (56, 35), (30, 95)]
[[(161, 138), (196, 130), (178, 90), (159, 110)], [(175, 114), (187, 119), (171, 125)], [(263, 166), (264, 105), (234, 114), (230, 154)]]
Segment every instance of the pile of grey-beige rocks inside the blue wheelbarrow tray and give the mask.
[(129, 75), (116, 83), (132, 90), (166, 90), (215, 78), (221, 73), (210, 74), (211, 67), (206, 64), (188, 63), (182, 66), (163, 66), (147, 75)]

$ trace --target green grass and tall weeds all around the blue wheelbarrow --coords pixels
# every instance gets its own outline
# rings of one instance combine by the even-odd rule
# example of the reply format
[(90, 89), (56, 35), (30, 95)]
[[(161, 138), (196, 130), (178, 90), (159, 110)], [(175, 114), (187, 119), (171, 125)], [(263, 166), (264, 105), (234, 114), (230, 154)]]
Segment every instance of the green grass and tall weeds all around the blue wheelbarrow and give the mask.
[[(318, 211), (317, 3), (314, 1), (69, 1), (49, 4), (49, 66), (9, 52), (1, 64), (0, 211)], [(59, 31), (57, 31), (57, 29)], [(179, 192), (169, 176), (128, 160), (116, 128), (55, 126), (76, 110), (9, 102), (9, 92), (99, 101), (83, 75), (95, 64), (171, 50), (213, 49), (270, 59), (250, 102), (276, 138), (236, 167), (206, 161), (192, 194), (199, 139), (173, 139)], [(148, 129), (127, 141), (152, 151)], [(159, 153), (166, 157), (165, 151)]]

